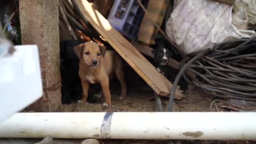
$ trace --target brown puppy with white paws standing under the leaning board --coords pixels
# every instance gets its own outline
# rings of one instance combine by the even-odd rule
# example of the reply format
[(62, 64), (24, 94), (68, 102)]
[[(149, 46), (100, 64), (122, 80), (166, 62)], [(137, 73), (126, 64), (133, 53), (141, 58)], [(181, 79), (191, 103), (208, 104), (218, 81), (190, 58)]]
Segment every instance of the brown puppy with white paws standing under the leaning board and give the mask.
[(122, 88), (120, 99), (126, 97), (126, 83), (124, 80), (123, 64), (121, 57), (115, 51), (107, 51), (107, 48), (94, 42), (86, 42), (74, 48), (79, 62), (79, 76), (81, 78), (83, 96), (80, 101), (86, 101), (90, 83), (100, 83), (101, 92), (105, 98), (104, 106), (111, 105), (109, 91), (109, 76), (115, 75)]

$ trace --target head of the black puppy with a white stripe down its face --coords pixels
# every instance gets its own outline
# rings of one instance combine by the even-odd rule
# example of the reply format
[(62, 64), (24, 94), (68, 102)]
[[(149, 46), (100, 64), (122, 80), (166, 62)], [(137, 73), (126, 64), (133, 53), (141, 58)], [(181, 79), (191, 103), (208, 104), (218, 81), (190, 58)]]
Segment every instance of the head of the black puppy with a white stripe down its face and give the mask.
[(158, 66), (167, 65), (169, 58), (172, 57), (171, 51), (167, 48), (155, 48), (152, 54), (155, 56), (154, 63)]

